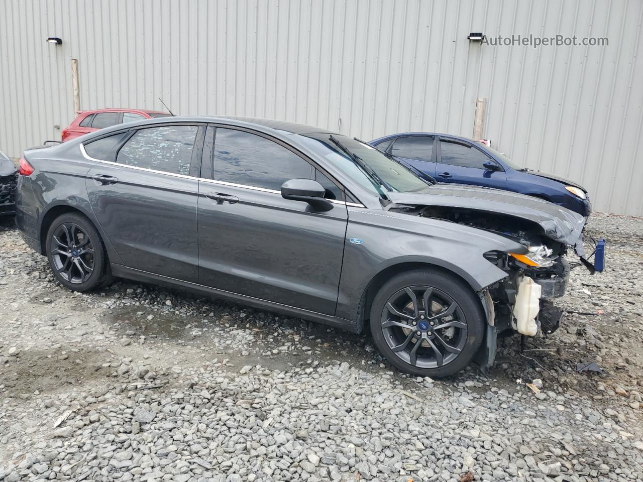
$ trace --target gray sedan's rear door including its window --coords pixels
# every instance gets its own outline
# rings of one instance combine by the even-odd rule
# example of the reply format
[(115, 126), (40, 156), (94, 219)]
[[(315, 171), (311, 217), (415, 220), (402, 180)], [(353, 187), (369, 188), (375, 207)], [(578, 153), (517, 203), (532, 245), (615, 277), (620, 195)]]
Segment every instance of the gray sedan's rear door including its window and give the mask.
[(204, 125), (133, 129), (84, 145), (87, 193), (127, 267), (196, 282), (197, 174)]

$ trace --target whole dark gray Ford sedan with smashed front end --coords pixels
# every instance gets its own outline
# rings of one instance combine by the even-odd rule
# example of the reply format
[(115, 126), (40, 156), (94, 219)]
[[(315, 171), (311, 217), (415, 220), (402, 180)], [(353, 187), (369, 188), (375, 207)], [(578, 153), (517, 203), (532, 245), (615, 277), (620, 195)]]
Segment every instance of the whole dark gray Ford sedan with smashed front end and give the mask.
[(556, 330), (566, 255), (583, 256), (583, 217), (556, 204), (432, 185), (356, 138), (261, 119), (160, 118), (27, 150), (16, 203), (71, 290), (121, 277), (368, 325), (391, 364), (431, 377), (488, 368), (501, 332)]

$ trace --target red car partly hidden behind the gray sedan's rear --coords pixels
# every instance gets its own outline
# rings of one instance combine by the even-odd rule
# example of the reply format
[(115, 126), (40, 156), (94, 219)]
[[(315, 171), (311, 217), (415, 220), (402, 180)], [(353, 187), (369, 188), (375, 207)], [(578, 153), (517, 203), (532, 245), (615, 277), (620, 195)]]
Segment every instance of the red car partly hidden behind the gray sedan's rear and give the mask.
[(134, 122), (155, 117), (167, 117), (170, 114), (159, 111), (141, 111), (140, 109), (96, 109), (95, 111), (78, 111), (77, 118), (62, 130), (62, 142), (74, 139), (87, 132), (94, 132), (104, 127)]

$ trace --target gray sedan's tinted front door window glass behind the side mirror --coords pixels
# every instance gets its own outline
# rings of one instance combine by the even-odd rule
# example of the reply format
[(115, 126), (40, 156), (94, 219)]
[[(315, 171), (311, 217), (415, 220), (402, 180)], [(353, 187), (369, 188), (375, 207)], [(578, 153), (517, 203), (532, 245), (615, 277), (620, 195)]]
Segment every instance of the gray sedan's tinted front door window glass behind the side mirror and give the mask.
[(217, 128), (213, 179), (281, 190), (289, 179), (312, 179), (312, 166), (277, 143), (242, 130)]

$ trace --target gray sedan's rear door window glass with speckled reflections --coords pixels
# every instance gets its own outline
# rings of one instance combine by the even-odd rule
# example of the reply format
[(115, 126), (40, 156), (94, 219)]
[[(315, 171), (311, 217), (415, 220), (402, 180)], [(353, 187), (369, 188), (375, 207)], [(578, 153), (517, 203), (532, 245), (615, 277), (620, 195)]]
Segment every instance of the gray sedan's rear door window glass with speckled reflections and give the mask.
[(194, 125), (140, 129), (118, 151), (116, 162), (188, 175), (197, 130)]

